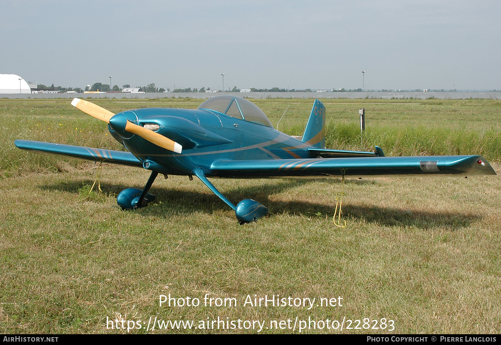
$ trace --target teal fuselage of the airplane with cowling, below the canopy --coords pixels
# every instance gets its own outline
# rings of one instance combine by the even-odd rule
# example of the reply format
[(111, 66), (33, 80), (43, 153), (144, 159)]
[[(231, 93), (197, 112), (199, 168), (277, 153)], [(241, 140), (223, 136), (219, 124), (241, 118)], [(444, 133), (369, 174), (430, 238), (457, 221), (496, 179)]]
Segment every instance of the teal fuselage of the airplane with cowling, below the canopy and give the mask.
[[(153, 128), (180, 143), (181, 153), (156, 146), (138, 135), (117, 133), (113, 137), (132, 152), (145, 167), (167, 175), (191, 175), (201, 168), (207, 177), (211, 164), (220, 159), (310, 158), (310, 146), (273, 127), (233, 118), (212, 110), (147, 108), (129, 110), (115, 116)], [(123, 136), (122, 136), (122, 135)], [(125, 136), (125, 137), (124, 137)]]

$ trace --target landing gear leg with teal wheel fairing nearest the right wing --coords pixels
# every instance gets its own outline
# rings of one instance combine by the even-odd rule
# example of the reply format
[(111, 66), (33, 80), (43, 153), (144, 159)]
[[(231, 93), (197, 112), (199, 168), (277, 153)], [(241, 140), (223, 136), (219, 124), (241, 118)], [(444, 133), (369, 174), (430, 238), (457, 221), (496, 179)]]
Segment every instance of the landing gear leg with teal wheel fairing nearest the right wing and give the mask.
[(202, 169), (200, 168), (195, 168), (193, 171), (191, 171), (193, 175), (195, 175), (197, 178), (200, 179), (201, 182), (205, 186), (207, 186), (212, 193), (217, 195), (219, 199), (224, 201), (226, 205), (231, 207), (235, 211), (235, 216), (240, 225), (244, 223), (250, 223), (258, 220), (261, 217), (264, 217), (268, 214), (268, 209), (258, 203), (257, 201), (254, 201), (252, 199), (244, 199), (240, 201), (236, 206), (233, 205), (228, 199), (226, 199), (225, 196), (219, 192), (214, 185), (212, 185), (209, 180), (205, 177), (205, 174), (203, 173)]

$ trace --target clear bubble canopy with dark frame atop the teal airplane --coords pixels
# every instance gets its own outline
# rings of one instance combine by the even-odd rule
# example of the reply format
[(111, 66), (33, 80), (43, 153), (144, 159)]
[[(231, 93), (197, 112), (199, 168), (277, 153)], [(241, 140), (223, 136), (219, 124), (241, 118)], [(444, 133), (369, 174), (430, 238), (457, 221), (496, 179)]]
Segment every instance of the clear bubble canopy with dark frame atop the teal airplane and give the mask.
[(240, 120), (273, 127), (263, 110), (256, 104), (241, 97), (218, 96), (209, 98), (200, 104), (198, 109), (214, 110)]

